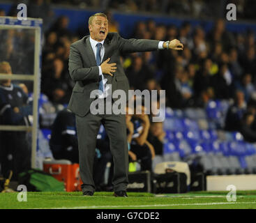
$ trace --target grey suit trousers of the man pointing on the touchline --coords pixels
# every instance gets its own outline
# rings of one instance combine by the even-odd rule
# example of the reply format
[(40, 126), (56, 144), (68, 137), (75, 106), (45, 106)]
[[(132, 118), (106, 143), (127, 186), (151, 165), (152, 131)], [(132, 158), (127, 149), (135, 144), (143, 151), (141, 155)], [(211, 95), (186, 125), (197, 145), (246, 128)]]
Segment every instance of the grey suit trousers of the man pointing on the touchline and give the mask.
[[(105, 100), (104, 100), (105, 103)], [(100, 123), (103, 123), (110, 139), (110, 151), (114, 161), (112, 183), (114, 191), (126, 190), (128, 185), (128, 143), (126, 116), (124, 114), (91, 114), (75, 116), (80, 161), (82, 191), (95, 191), (93, 182), (93, 160)]]

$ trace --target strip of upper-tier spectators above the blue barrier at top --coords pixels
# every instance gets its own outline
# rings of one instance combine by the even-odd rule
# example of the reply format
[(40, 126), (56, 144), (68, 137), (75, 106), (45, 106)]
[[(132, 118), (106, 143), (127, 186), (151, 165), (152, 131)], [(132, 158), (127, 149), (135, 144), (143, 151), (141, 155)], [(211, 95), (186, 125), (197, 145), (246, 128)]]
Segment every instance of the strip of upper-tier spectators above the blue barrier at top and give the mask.
[[(40, 0), (42, 1), (42, 0)], [(240, 19), (252, 20), (255, 12), (254, 0), (49, 0), (49, 3), (80, 6), (80, 8), (112, 8), (127, 13), (155, 13), (197, 18), (223, 17), (228, 3), (236, 5)]]

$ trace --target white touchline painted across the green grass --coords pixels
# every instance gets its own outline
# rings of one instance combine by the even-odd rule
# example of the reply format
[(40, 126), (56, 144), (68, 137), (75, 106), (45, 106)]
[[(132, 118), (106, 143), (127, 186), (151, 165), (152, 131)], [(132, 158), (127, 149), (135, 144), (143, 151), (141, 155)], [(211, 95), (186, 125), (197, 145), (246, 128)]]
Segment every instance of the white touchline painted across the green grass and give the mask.
[(168, 207), (168, 206), (207, 206), (222, 204), (253, 204), (256, 202), (216, 202), (216, 203), (172, 203), (172, 204), (154, 204), (154, 205), (127, 205), (127, 206), (79, 206), (79, 207), (61, 207), (51, 209), (90, 209), (90, 208), (146, 208), (146, 207)]

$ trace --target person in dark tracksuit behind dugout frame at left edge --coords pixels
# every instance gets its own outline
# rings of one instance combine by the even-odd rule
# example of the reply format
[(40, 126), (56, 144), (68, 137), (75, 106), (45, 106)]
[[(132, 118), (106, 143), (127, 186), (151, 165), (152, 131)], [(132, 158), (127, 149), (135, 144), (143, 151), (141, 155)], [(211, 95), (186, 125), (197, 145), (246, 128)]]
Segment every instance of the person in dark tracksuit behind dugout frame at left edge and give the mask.
[[(0, 73), (12, 75), (10, 64), (0, 63)], [(0, 125), (30, 125), (28, 116), (32, 114), (28, 96), (20, 86), (10, 79), (0, 79)], [(0, 163), (3, 177), (12, 180), (18, 174), (31, 168), (31, 146), (26, 131), (0, 131)]]

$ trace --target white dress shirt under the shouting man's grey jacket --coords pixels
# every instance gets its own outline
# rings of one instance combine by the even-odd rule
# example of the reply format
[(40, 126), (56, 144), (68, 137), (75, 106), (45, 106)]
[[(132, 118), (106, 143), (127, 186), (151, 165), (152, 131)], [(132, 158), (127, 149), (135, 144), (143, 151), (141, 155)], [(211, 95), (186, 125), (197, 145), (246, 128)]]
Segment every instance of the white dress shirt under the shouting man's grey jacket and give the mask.
[[(96, 53), (97, 53), (97, 44), (98, 43), (102, 44), (102, 47), (100, 49), (100, 59), (101, 59), (101, 62), (103, 62), (103, 56), (105, 54), (105, 47), (103, 45), (104, 41), (105, 40), (102, 40), (101, 42), (98, 42), (96, 40), (93, 40), (91, 38), (91, 36), (90, 36), (91, 48), (93, 49), (93, 53), (94, 53), (95, 59), (96, 59)], [(158, 49), (163, 49), (163, 43), (164, 43), (164, 41), (160, 41), (158, 43)], [(106, 98), (107, 95), (110, 94), (110, 87), (107, 87), (107, 78), (104, 77), (103, 71), (101, 70), (101, 67), (98, 66), (98, 69), (99, 69), (99, 74), (98, 75), (101, 75), (102, 79), (103, 79), (103, 93), (101, 95), (98, 95), (99, 96), (98, 98)]]

